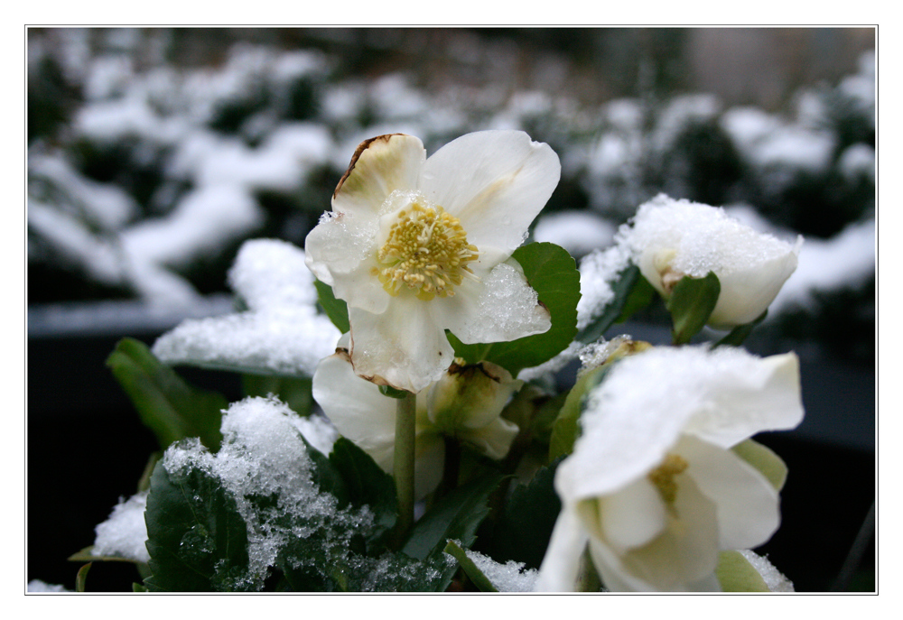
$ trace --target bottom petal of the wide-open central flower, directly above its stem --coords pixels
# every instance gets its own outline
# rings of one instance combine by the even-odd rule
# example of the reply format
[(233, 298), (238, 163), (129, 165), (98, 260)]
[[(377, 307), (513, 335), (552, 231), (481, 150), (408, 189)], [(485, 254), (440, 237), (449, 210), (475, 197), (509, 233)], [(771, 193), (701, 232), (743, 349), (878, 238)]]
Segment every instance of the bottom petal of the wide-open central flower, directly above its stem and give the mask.
[(371, 314), (349, 308), (351, 363), (358, 376), (420, 392), (452, 365), (454, 349), (431, 313), (431, 303), (399, 295)]

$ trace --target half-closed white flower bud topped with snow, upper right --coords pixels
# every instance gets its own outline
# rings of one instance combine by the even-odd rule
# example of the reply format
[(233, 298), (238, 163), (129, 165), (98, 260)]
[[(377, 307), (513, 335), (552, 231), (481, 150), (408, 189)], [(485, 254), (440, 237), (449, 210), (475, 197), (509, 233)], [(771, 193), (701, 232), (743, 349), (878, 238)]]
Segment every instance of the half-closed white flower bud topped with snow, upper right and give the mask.
[(803, 237), (791, 245), (756, 232), (721, 208), (659, 194), (638, 208), (626, 238), (643, 276), (665, 297), (684, 277), (718, 276), (721, 294), (709, 324), (730, 329), (768, 309), (796, 270)]

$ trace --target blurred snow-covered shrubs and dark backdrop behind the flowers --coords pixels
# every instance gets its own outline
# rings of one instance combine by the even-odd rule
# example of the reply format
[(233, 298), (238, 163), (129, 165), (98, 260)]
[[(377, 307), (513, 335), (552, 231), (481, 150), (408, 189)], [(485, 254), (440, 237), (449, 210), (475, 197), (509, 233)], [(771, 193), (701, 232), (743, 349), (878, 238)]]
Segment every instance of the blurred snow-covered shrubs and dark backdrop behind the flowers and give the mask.
[[(30, 570), (90, 544), (154, 449), (103, 365), (116, 339), (150, 344), (186, 317), (232, 312), (241, 245), (303, 247), (377, 134), (417, 135), (429, 153), (480, 129), (549, 143), (562, 181), (532, 236), (578, 260), (661, 191), (802, 234), (750, 348), (841, 363), (804, 373), (810, 398), (807, 381), (833, 388), (827, 409), (873, 392), (869, 29), (32, 29), (27, 52)], [(639, 319), (638, 338), (667, 333), (664, 313)], [(873, 418), (837, 422), (873, 447)], [(792, 472), (794, 454), (822, 462), (795, 448)], [(867, 451), (855, 457), (870, 469)], [(61, 460), (78, 462), (79, 485), (46, 482)], [(846, 474), (830, 467), (819, 476)], [(98, 479), (109, 486), (86, 488)], [(796, 493), (788, 502), (811, 503)], [(78, 509), (51, 527), (61, 504)], [(823, 527), (814, 540), (847, 535)], [(69, 583), (76, 568), (34, 577)]]

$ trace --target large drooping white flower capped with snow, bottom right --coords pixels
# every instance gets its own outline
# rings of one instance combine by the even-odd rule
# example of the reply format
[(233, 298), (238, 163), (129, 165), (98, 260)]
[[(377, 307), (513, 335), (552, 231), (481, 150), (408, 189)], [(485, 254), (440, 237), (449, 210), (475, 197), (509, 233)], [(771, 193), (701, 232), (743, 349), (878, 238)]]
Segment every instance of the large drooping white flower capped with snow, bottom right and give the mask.
[(802, 420), (796, 355), (654, 348), (588, 399), (555, 474), (562, 512), (536, 589), (573, 590), (589, 550), (613, 591), (719, 590), (719, 552), (757, 547), (780, 523), (777, 489), (731, 447)]

